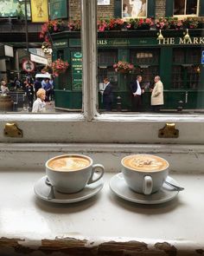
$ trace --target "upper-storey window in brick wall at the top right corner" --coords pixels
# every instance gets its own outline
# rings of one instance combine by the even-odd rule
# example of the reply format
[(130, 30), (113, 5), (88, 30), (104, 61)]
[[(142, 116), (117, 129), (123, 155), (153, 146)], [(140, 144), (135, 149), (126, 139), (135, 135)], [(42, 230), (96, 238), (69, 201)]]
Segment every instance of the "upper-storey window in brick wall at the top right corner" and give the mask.
[(174, 15), (198, 16), (199, 0), (174, 0)]

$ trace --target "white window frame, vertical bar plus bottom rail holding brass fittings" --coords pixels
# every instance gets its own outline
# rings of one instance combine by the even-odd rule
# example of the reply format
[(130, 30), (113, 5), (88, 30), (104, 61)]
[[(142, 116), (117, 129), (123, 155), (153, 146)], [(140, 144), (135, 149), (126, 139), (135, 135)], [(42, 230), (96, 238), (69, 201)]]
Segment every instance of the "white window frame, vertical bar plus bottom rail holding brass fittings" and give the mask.
[[(0, 115), (1, 130), (16, 122), (22, 138), (0, 134), (2, 142), (72, 143), (158, 143), (203, 144), (204, 116), (177, 114), (99, 114), (97, 94), (97, 1), (82, 0), (83, 111), (80, 114)], [(89, 28), (89, 30), (87, 30)], [(174, 122), (180, 130), (177, 139), (159, 138), (158, 130)]]

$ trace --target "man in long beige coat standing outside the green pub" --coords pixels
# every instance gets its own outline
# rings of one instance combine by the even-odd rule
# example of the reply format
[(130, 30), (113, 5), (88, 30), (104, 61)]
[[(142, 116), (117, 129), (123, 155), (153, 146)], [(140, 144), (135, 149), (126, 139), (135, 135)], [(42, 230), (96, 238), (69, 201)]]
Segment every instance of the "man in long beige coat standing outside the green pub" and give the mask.
[(159, 112), (163, 106), (163, 82), (159, 75), (155, 76), (155, 85), (151, 91), (151, 106), (154, 112)]

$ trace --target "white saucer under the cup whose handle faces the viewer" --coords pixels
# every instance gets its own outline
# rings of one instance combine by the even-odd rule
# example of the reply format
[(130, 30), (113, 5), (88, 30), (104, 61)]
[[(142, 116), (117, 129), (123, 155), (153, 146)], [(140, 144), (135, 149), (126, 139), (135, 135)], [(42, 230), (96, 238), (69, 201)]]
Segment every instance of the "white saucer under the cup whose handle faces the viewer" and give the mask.
[[(166, 181), (169, 181), (170, 183), (179, 186), (179, 184), (169, 176), (167, 177)], [(122, 173), (114, 175), (109, 185), (112, 192), (114, 194), (117, 194), (118, 197), (139, 204), (161, 204), (169, 200), (172, 200), (178, 194), (178, 191), (176, 191), (174, 188), (170, 187), (165, 183), (163, 183), (163, 187), (155, 194), (137, 194), (127, 186), (126, 182), (124, 181), (124, 176)]]

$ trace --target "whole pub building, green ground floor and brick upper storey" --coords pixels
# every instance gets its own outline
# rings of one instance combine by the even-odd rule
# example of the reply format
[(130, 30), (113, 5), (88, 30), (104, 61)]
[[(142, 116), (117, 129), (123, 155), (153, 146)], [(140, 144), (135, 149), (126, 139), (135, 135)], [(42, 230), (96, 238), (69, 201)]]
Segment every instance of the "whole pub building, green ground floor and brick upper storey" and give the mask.
[[(122, 108), (123, 111), (131, 110), (130, 84), (137, 75), (143, 76), (142, 84), (145, 90), (143, 111), (150, 110), (150, 87), (155, 75), (160, 75), (163, 81), (164, 110), (202, 109), (204, 107), (202, 101), (204, 73), (201, 64), (204, 45), (203, 3), (194, 1), (192, 10), (188, 0), (185, 1), (185, 10), (176, 9), (179, 6), (171, 0), (149, 0), (145, 3), (145, 16), (141, 18), (138, 16), (137, 24), (132, 24), (130, 19), (124, 19), (125, 22), (131, 23), (131, 28), (125, 27), (124, 23), (120, 23), (118, 27), (114, 24), (114, 28), (111, 29), (108, 27), (111, 19), (115, 19), (114, 23), (116, 23), (116, 18), (123, 17), (123, 1), (112, 0), (108, 5), (98, 6), (98, 21), (106, 21), (105, 26), (108, 27), (99, 30), (97, 41), (99, 109), (103, 109), (100, 93), (104, 87), (103, 78), (108, 77), (114, 88), (113, 110), (118, 108)], [(70, 1), (69, 8), (70, 19), (74, 20), (74, 16), (79, 18), (80, 1)], [(165, 19), (164, 16), (168, 18)], [(140, 19), (143, 20), (142, 24), (138, 22)], [(154, 25), (150, 25), (147, 19), (150, 19)], [(176, 21), (176, 25), (173, 21)], [(180, 21), (181, 27), (178, 24)], [(159, 39), (160, 32), (162, 39)], [(51, 36), (54, 42), (54, 59), (61, 57), (70, 63), (67, 72), (56, 79), (56, 107), (80, 109), (82, 104), (80, 31), (65, 30)], [(113, 65), (118, 61), (130, 62), (134, 64), (134, 69), (126, 74), (116, 72)]]

